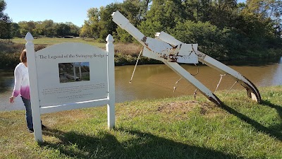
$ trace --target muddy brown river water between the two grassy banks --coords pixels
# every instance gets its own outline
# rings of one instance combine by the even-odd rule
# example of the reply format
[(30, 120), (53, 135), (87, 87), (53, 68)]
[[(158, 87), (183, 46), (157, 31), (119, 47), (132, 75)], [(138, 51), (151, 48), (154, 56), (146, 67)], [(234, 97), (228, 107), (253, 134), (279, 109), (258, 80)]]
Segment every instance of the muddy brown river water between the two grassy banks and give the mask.
[[(219, 83), (220, 73), (209, 66), (181, 65), (195, 76), (207, 88), (214, 91)], [(247, 61), (228, 64), (243, 76), (247, 77), (257, 87), (282, 85), (282, 57), (272, 61)], [(116, 66), (116, 102), (130, 100), (169, 98), (180, 95), (192, 95), (195, 88), (184, 79), (177, 85), (180, 76), (164, 64), (139, 65), (135, 70), (132, 83), (129, 83), (134, 66)], [(0, 111), (23, 110), (24, 106), (20, 98), (16, 98), (14, 104), (8, 103), (8, 98), (13, 90), (13, 70), (0, 69)], [(233, 86), (233, 79), (223, 76), (218, 90), (228, 90)], [(173, 93), (173, 87), (176, 91)], [(233, 89), (242, 89), (235, 84)], [(245, 91), (245, 90), (243, 90)], [(262, 97), (263, 98), (263, 97)]]

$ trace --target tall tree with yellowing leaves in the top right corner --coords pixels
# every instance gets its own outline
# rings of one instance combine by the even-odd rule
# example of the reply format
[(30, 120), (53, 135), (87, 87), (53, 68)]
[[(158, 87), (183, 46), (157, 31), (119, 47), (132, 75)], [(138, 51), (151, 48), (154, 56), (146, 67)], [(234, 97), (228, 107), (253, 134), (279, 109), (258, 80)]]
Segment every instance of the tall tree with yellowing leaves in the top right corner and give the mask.
[(245, 21), (241, 30), (255, 43), (253, 47), (274, 47), (274, 39), (281, 40), (281, 0), (247, 0), (240, 15)]

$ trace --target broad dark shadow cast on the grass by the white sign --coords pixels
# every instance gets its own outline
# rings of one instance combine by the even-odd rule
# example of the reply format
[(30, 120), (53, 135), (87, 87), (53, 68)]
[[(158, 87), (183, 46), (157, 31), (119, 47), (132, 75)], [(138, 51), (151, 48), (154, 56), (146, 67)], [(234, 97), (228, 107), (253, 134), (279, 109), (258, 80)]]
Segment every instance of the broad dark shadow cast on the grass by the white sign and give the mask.
[(75, 131), (63, 132), (46, 129), (44, 135), (54, 136), (60, 143), (41, 143), (43, 148), (59, 150), (67, 157), (74, 158), (240, 158), (209, 148), (190, 146), (155, 136), (142, 131), (123, 128), (114, 129), (122, 134), (121, 141), (109, 131), (99, 131), (90, 136)]

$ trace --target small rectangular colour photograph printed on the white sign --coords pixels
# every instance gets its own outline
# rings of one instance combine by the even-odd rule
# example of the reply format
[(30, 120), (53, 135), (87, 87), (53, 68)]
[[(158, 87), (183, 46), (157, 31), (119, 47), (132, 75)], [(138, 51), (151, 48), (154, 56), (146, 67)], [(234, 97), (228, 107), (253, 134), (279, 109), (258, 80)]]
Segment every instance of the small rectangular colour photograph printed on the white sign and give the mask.
[(89, 62), (59, 63), (60, 83), (90, 81)]

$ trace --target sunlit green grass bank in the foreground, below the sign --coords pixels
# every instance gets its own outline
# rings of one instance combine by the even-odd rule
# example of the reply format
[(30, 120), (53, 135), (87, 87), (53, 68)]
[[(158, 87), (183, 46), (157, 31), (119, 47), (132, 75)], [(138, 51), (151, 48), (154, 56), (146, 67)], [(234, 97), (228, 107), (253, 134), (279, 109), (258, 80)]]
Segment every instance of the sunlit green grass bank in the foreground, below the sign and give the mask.
[(42, 115), (44, 143), (25, 128), (24, 111), (0, 112), (0, 158), (282, 158), (282, 86), (259, 88), (262, 105), (233, 90), (217, 107), (202, 95)]

